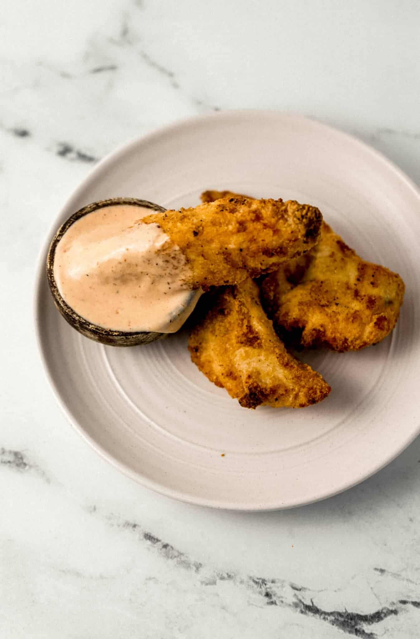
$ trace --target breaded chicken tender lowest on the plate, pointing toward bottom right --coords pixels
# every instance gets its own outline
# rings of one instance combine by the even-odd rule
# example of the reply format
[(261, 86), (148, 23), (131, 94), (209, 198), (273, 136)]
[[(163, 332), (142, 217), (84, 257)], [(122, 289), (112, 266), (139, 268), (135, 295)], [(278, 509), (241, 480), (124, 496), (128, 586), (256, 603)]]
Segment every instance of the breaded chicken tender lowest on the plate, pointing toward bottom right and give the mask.
[(200, 371), (244, 408), (303, 408), (331, 390), (319, 373), (287, 352), (249, 277), (216, 294), (210, 311), (193, 328), (188, 348)]

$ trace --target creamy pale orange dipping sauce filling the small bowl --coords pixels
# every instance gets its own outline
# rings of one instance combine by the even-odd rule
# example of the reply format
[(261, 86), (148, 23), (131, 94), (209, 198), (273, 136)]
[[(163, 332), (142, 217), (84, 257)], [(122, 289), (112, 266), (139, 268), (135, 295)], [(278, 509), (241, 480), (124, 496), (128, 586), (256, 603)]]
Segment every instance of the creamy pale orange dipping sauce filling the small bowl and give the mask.
[(154, 211), (114, 204), (87, 213), (57, 243), (54, 278), (60, 295), (87, 321), (124, 332), (174, 333), (202, 291), (187, 288), (183, 253), (158, 224), (139, 220)]

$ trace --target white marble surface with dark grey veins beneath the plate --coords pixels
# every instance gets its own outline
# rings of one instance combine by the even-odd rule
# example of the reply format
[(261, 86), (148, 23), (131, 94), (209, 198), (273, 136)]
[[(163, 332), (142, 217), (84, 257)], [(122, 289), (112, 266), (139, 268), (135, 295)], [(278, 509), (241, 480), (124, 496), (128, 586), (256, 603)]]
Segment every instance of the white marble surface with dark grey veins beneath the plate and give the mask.
[(66, 422), (32, 316), (36, 259), (57, 210), (116, 145), (178, 118), (299, 112), (370, 142), (418, 183), (419, 8), (2, 6), (1, 636), (419, 636), (419, 440), (308, 507), (232, 514), (174, 502), (123, 477)]

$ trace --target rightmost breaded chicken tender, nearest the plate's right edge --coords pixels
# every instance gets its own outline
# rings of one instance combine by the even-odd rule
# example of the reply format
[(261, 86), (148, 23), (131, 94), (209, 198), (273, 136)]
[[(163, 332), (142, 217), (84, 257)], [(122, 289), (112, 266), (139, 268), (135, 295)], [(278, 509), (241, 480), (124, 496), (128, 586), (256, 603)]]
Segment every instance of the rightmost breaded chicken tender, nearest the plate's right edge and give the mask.
[(404, 282), (366, 262), (325, 222), (317, 246), (262, 283), (262, 302), (285, 341), (336, 351), (377, 344), (393, 330)]

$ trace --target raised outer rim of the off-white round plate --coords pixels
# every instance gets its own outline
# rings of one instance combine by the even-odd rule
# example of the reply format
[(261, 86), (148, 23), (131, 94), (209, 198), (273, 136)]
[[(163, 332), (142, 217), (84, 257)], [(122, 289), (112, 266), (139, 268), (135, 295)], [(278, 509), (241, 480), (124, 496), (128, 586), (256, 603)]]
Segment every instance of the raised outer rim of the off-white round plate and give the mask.
[(414, 193), (414, 196), (416, 196), (417, 199), (419, 199), (419, 203), (420, 203), (420, 188), (417, 187), (414, 180), (412, 180), (409, 176), (407, 176), (407, 174), (405, 174), (404, 171), (400, 169), (400, 167), (394, 164), (392, 160), (389, 160), (389, 158), (387, 158), (386, 155), (384, 155), (380, 151), (377, 151), (375, 148), (370, 146), (370, 144), (364, 141), (361, 141), (355, 135), (344, 132), (340, 130), (339, 128), (332, 127), (329, 124), (325, 124), (324, 122), (319, 121), (319, 119), (314, 118), (313, 116), (308, 117), (308, 116), (304, 116), (294, 112), (278, 111), (276, 109), (226, 109), (223, 111), (210, 112), (210, 113), (202, 114), (198, 116), (177, 119), (173, 121), (172, 123), (168, 123), (161, 127), (155, 128), (153, 131), (145, 135), (140, 135), (139, 137), (136, 137), (135, 139), (132, 139), (129, 142), (124, 142), (123, 144), (117, 146), (117, 148), (114, 151), (110, 151), (110, 153), (105, 155), (105, 157), (103, 157), (98, 162), (98, 164), (96, 164), (87, 173), (86, 177), (84, 178), (84, 180), (80, 182), (77, 189), (73, 190), (73, 192), (71, 192), (71, 195), (66, 199), (66, 201), (64, 201), (63, 206), (61, 206), (61, 209), (57, 213), (56, 217), (54, 217), (54, 220), (49, 227), (49, 231), (47, 232), (45, 240), (41, 244), (40, 250), (38, 252), (38, 257), (36, 259), (36, 270), (34, 274), (34, 288), (33, 288), (33, 320), (34, 320), (33, 328), (35, 332), (36, 344), (38, 347), (37, 348), (38, 356), (40, 357), (43, 371), (49, 383), (50, 389), (52, 390), (52, 393), (54, 397), (56, 398), (59, 408), (61, 409), (61, 412), (67, 418), (68, 422), (70, 422), (71, 426), (75, 429), (75, 431), (79, 433), (79, 435), (96, 451), (96, 453), (98, 453), (101, 456), (101, 458), (108, 461), (112, 466), (114, 466), (114, 468), (117, 468), (124, 475), (130, 477), (130, 479), (133, 479), (133, 481), (141, 484), (142, 486), (145, 486), (148, 489), (151, 489), (159, 493), (160, 495), (163, 495), (164, 497), (170, 497), (170, 498), (176, 499), (177, 501), (184, 502), (184, 503), (186, 502), (188, 504), (200, 505), (200, 506), (211, 507), (211, 508), (227, 510), (227, 511), (270, 512), (270, 511), (297, 508), (297, 507), (301, 507), (301, 506), (309, 505), (309, 504), (315, 504), (316, 502), (323, 501), (325, 499), (328, 499), (329, 497), (340, 495), (341, 493), (349, 490), (350, 488), (354, 488), (354, 486), (357, 486), (358, 484), (365, 481), (369, 477), (372, 477), (377, 472), (382, 470), (382, 468), (385, 468), (385, 466), (391, 463), (391, 461), (396, 459), (405, 449), (407, 449), (407, 447), (409, 447), (409, 445), (412, 442), (414, 442), (414, 440), (420, 434), (420, 420), (417, 425), (416, 431), (414, 431), (409, 438), (406, 438), (405, 440), (403, 440), (401, 445), (393, 452), (393, 454), (387, 457), (386, 461), (383, 461), (382, 463), (375, 465), (373, 469), (370, 470), (369, 472), (364, 473), (363, 475), (361, 475), (360, 477), (357, 477), (356, 479), (352, 479), (352, 481), (347, 482), (345, 486), (342, 486), (339, 489), (334, 489), (332, 492), (321, 494), (318, 497), (309, 498), (308, 500), (301, 500), (299, 501), (299, 503), (296, 503), (296, 504), (287, 504), (287, 505), (281, 504), (281, 500), (279, 500), (278, 504), (275, 504), (275, 505), (261, 504), (257, 506), (255, 504), (251, 505), (251, 504), (238, 503), (238, 502), (226, 502), (216, 498), (213, 498), (213, 499), (202, 498), (202, 497), (193, 495), (192, 493), (183, 493), (182, 491), (172, 489), (168, 486), (165, 486), (163, 484), (160, 484), (158, 482), (155, 482), (149, 479), (146, 475), (140, 472), (132, 470), (123, 461), (119, 461), (118, 459), (114, 458), (114, 456), (112, 456), (112, 454), (107, 452), (107, 450), (105, 450), (100, 443), (98, 443), (92, 436), (87, 434), (86, 430), (81, 426), (81, 424), (79, 424), (78, 420), (75, 419), (75, 417), (73, 417), (70, 408), (68, 408), (68, 406), (62, 399), (59, 393), (59, 390), (57, 388), (56, 381), (54, 380), (52, 374), (50, 373), (49, 365), (47, 363), (47, 358), (46, 358), (45, 352), (43, 351), (42, 339), (41, 339), (41, 328), (40, 328), (40, 325), (41, 325), (40, 295), (41, 295), (41, 287), (43, 285), (43, 279), (45, 277), (45, 259), (49, 249), (50, 242), (52, 240), (52, 237), (56, 233), (57, 224), (59, 224), (59, 219), (61, 219), (64, 213), (64, 210), (68, 209), (72, 205), (71, 203), (73, 201), (76, 201), (79, 198), (83, 190), (86, 190), (86, 188), (89, 188), (91, 183), (96, 179), (97, 174), (100, 174), (103, 171), (103, 168), (107, 166), (107, 164), (115, 162), (115, 160), (121, 157), (121, 155), (125, 155), (126, 153), (130, 152), (137, 146), (153, 141), (154, 137), (160, 137), (161, 135), (165, 135), (167, 133), (173, 133), (176, 130), (181, 130), (182, 128), (189, 127), (191, 125), (193, 126), (196, 123), (204, 123), (206, 121), (213, 121), (213, 120), (224, 119), (224, 118), (236, 119), (240, 116), (253, 116), (253, 117), (259, 117), (259, 118), (262, 118), (264, 116), (269, 116), (269, 117), (274, 116), (275, 118), (280, 117), (280, 118), (291, 119), (291, 120), (295, 119), (295, 120), (300, 120), (303, 122), (315, 123), (317, 127), (327, 130), (333, 133), (334, 135), (337, 135), (337, 134), (341, 135), (348, 142), (351, 142), (352, 144), (356, 144), (357, 146), (360, 146), (364, 150), (364, 152), (367, 151), (368, 153), (373, 155), (373, 157), (375, 157), (377, 160), (380, 160), (380, 162), (382, 162), (382, 164), (384, 164), (388, 169), (393, 171), (393, 173), (396, 174), (400, 178), (400, 180), (402, 180), (407, 185), (407, 187), (409, 187), (410, 190), (412, 190), (412, 192)]

